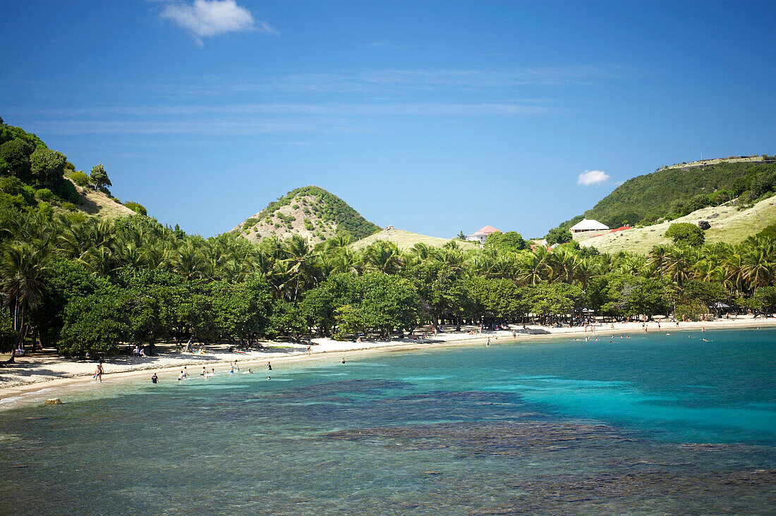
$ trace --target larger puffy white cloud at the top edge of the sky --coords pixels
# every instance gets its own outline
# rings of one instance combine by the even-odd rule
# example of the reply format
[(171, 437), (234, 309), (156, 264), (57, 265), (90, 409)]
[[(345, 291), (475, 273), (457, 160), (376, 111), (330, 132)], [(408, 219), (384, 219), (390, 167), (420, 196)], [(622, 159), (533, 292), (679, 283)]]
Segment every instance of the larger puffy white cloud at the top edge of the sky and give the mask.
[(266, 22), (255, 23), (251, 12), (237, 5), (235, 0), (194, 0), (192, 4), (174, 3), (167, 5), (160, 16), (188, 30), (200, 45), (203, 37), (244, 30), (278, 34), (277, 29)]

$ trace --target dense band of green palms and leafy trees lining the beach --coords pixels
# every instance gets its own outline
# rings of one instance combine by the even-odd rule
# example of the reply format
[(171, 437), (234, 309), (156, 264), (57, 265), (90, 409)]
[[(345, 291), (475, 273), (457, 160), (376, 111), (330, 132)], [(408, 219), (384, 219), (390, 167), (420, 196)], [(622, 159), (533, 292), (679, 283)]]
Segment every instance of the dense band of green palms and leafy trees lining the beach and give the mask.
[(388, 337), (421, 324), (542, 324), (594, 310), (605, 317), (697, 318), (722, 302), (771, 310), (776, 241), (657, 247), (649, 255), (463, 251), (378, 241), (360, 251), (341, 235), (251, 244), (202, 238), (147, 216), (47, 218), (0, 211), (0, 345), (16, 339), (64, 355), (116, 352), (159, 339), (248, 345), (260, 337)]

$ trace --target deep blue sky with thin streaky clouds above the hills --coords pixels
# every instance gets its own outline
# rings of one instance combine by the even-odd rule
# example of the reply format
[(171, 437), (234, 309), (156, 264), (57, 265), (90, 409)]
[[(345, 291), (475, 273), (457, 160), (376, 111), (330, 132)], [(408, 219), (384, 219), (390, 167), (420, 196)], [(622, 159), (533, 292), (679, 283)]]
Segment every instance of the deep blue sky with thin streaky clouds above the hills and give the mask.
[(0, 116), (220, 234), (318, 185), (539, 237), (664, 164), (776, 154), (776, 2), (0, 1)]

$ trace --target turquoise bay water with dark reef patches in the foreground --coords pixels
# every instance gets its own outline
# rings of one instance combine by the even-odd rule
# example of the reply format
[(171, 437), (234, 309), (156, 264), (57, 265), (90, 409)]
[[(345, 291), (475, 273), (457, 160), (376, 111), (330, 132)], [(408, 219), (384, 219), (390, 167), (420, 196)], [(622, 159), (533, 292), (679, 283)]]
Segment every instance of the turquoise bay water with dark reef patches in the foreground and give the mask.
[(772, 514), (776, 331), (613, 341), (61, 391), (0, 412), (0, 512)]

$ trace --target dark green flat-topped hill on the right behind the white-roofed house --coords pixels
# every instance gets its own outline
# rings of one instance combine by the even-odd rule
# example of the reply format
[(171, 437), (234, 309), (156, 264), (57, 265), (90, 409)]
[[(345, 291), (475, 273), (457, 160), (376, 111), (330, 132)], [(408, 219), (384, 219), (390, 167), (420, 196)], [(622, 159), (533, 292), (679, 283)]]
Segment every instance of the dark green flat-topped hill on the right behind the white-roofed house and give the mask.
[[(629, 179), (583, 216), (608, 227), (653, 223), (661, 218), (688, 215), (705, 206), (719, 206), (734, 198), (750, 204), (774, 189), (776, 159), (773, 157), (698, 161), (663, 167)], [(562, 226), (570, 227), (581, 218)]]

